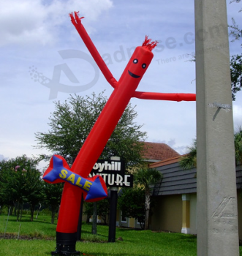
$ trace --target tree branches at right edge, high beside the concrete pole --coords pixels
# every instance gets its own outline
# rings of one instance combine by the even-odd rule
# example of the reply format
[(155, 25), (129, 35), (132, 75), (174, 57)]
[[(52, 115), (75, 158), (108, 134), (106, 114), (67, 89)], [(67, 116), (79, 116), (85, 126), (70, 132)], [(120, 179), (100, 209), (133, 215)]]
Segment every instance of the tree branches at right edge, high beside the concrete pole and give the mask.
[[(232, 0), (230, 3), (232, 2), (240, 3), (241, 0)], [(239, 12), (241, 12), (241, 10), (239, 10)], [(242, 37), (242, 29), (238, 27), (238, 24), (236, 23), (234, 18), (232, 18), (232, 25), (230, 25), (229, 28), (230, 35), (232, 35), (233, 37), (232, 42), (235, 40), (240, 40)], [(230, 72), (232, 99), (235, 100), (236, 92), (241, 91), (242, 88), (242, 54), (235, 54), (231, 57)]]

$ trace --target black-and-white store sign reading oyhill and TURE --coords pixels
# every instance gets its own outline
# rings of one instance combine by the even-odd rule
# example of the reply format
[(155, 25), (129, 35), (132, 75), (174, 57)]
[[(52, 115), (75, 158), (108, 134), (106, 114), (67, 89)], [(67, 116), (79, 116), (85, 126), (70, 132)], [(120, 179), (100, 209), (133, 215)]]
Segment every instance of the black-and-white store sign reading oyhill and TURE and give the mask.
[(133, 187), (132, 174), (125, 174), (123, 161), (98, 160), (89, 174), (102, 176), (107, 187)]

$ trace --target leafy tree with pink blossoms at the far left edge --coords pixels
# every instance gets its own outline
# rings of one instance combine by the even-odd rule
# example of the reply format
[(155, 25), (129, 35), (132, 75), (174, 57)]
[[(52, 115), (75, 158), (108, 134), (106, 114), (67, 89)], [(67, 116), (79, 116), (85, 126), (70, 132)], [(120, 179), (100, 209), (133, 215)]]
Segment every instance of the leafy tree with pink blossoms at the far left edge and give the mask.
[(37, 170), (38, 158), (26, 155), (8, 161), (0, 162), (0, 197), (5, 206), (14, 206), (17, 220), (23, 203), (31, 206), (31, 220), (33, 220), (34, 206), (41, 200), (41, 180)]

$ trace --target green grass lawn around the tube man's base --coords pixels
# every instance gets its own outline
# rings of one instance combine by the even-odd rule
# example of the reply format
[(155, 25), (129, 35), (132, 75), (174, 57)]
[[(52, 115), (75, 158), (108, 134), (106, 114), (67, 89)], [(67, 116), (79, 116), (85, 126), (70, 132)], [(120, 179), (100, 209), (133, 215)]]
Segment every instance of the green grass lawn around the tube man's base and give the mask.
[[(50, 216), (39, 216), (38, 219), (34, 219), (34, 222), (30, 222), (29, 219), (29, 216), (23, 216), (21, 222), (16, 222), (16, 217), (10, 217), (7, 223), (7, 215), (0, 215), (1, 236), (5, 230), (5, 235), (14, 233), (15, 236), (12, 239), (0, 239), (0, 256), (51, 255), (50, 252), (55, 250), (56, 224), (50, 224)], [(116, 238), (121, 237), (124, 241), (107, 243), (108, 227), (99, 225), (97, 233), (97, 236), (92, 236), (91, 225), (84, 224), (82, 227), (83, 241), (77, 241), (76, 249), (90, 256), (196, 255), (197, 238), (191, 235), (117, 227)], [(20, 238), (28, 235), (34, 239), (18, 240), (18, 235)]]

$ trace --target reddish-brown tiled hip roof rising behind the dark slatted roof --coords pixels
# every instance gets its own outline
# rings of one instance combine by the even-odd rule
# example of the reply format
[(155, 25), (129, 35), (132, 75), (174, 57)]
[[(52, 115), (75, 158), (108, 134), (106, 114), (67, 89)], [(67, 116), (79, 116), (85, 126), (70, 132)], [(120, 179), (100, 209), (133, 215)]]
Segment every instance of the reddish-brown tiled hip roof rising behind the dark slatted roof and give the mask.
[(180, 154), (165, 143), (144, 142), (143, 159), (148, 162), (159, 162), (179, 157)]

